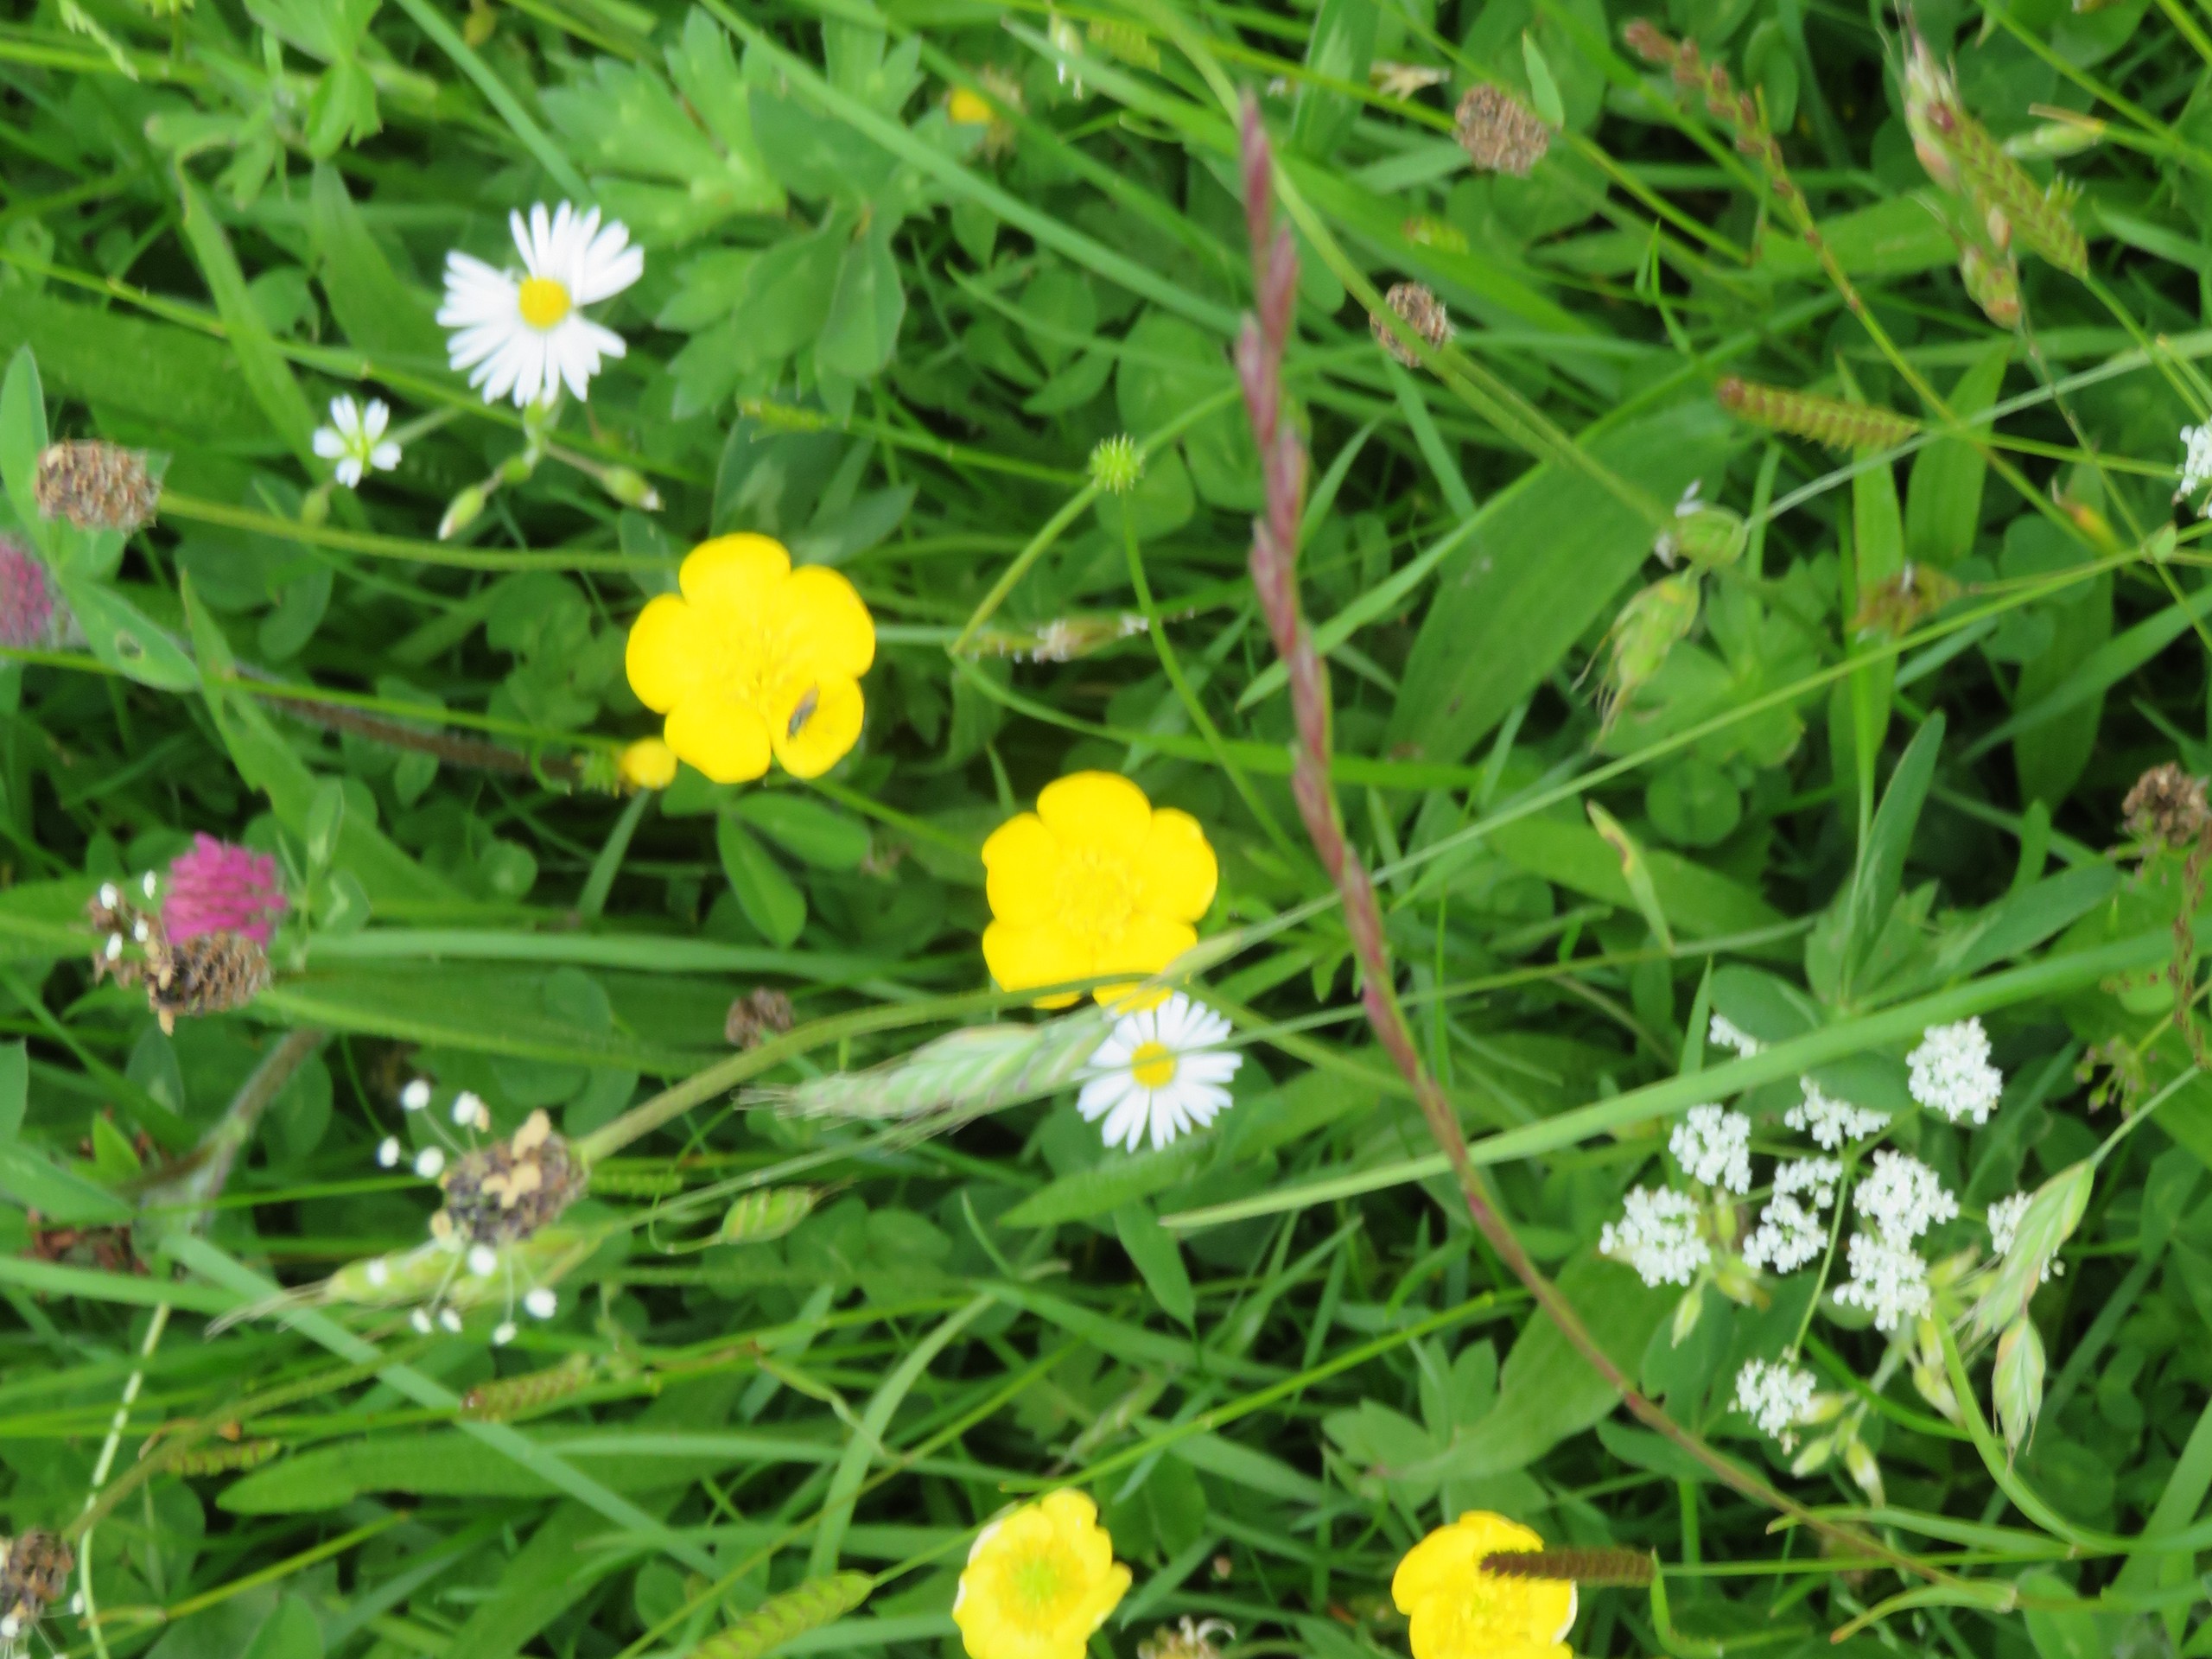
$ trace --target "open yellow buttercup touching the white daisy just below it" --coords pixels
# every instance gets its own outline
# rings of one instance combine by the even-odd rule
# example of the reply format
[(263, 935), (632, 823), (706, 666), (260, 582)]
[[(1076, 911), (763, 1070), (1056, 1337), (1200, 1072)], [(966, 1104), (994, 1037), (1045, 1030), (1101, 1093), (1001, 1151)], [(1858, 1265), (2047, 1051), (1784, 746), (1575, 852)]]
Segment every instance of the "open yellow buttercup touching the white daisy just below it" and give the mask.
[[(1214, 902), (1221, 876), (1197, 818), (1155, 812), (1144, 790), (1113, 772), (1046, 783), (1035, 812), (982, 843), (982, 867), (995, 918), (982, 960), (1006, 991), (1157, 973), (1199, 942), (1192, 922)], [(1097, 998), (1124, 1002), (1128, 991), (1108, 984)], [(1040, 1002), (1064, 1009), (1075, 998)]]

